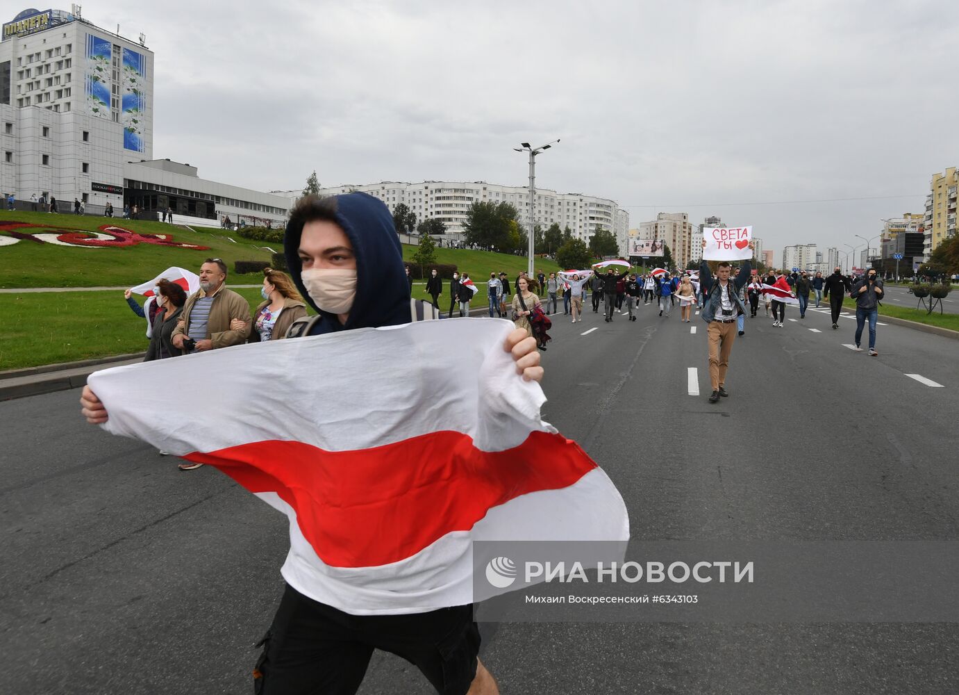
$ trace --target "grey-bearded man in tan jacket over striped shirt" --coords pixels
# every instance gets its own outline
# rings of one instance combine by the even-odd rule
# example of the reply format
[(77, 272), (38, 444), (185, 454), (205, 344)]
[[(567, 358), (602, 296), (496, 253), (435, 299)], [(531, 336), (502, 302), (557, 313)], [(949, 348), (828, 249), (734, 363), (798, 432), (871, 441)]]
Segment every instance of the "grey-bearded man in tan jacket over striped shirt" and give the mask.
[[(183, 318), (173, 332), (176, 348), (188, 352), (205, 352), (231, 345), (243, 345), (251, 324), (249, 304), (232, 290), (226, 289), (226, 264), (220, 258), (207, 258), (199, 267), (199, 290), (183, 305)], [(239, 319), (246, 326), (230, 330), (230, 322)], [(193, 470), (202, 464), (184, 461), (180, 470)]]

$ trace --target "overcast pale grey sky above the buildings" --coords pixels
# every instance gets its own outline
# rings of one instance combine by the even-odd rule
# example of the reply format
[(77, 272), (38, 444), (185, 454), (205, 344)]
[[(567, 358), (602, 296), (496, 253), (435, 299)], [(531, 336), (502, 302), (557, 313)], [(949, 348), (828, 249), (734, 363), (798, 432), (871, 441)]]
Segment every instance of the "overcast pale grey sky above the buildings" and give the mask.
[[(85, 4), (147, 35), (153, 154), (250, 188), (537, 185), (856, 246), (959, 165), (951, 0)], [(836, 202), (795, 203), (796, 201)], [(778, 204), (768, 204), (778, 203)], [(778, 256), (779, 257), (779, 256)]]

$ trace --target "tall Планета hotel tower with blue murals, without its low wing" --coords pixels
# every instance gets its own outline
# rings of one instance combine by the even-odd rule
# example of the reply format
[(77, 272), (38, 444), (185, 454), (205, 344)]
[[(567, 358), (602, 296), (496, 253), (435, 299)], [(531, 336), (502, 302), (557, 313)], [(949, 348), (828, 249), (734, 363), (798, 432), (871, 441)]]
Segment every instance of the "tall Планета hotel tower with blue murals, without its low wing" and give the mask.
[(3, 25), (0, 188), (123, 206), (124, 163), (153, 156), (145, 41), (60, 10), (26, 10)]

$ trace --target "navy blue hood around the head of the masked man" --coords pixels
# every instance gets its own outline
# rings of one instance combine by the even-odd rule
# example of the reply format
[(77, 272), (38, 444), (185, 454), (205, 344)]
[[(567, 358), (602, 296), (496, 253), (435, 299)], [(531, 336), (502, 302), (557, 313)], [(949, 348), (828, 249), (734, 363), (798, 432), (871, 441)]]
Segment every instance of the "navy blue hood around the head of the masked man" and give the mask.
[(403, 249), (386, 204), (366, 193), (347, 193), (334, 198), (337, 224), (349, 237), (357, 259), (357, 296), (346, 324), (339, 324), (335, 314), (320, 311), (303, 285), (303, 267), (298, 254), (303, 225), (287, 225), (283, 238), (287, 267), (296, 289), (323, 317), (310, 335), (409, 324), (409, 281), (403, 265)]

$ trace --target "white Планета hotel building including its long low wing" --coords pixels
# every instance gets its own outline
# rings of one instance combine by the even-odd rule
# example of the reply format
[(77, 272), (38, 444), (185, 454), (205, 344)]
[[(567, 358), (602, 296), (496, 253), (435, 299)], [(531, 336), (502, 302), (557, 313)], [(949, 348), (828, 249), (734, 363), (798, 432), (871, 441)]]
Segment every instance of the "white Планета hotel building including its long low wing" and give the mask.
[(177, 222), (283, 224), (291, 201), (217, 181), (196, 167), (153, 159), (153, 53), (71, 12), (25, 10), (0, 40), (0, 193), (74, 200), (87, 214), (119, 217), (168, 207)]

